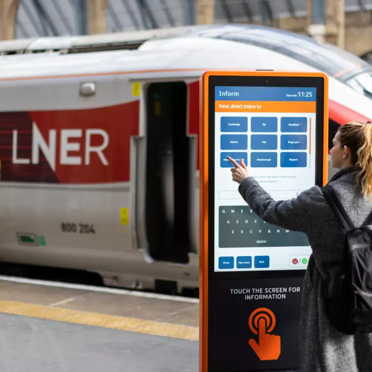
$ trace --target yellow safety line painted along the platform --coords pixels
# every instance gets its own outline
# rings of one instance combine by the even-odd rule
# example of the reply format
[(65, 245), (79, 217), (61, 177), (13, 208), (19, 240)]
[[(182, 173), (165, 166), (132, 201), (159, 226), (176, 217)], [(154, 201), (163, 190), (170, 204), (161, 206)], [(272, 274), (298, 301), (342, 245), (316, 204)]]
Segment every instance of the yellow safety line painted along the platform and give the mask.
[(58, 307), (35, 305), (32, 303), (0, 300), (0, 313), (84, 324), (87, 326), (110, 328), (113, 330), (136, 332), (146, 335), (181, 338), (190, 341), (197, 341), (199, 339), (198, 327), (92, 313), (81, 310), (62, 309)]

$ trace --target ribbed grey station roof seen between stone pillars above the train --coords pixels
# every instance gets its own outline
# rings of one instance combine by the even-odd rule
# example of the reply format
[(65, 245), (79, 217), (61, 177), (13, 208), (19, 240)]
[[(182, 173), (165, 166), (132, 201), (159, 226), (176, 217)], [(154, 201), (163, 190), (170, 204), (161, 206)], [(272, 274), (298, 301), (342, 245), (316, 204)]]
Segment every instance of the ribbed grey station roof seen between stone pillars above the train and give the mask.
[[(194, 0), (191, 0), (194, 1)], [(107, 32), (169, 28), (184, 25), (186, 0), (109, 0)], [(20, 0), (15, 38), (82, 34), (86, 16), (78, 0)], [(372, 8), (365, 0), (346, 0), (346, 11)], [(216, 0), (216, 23), (306, 15), (306, 0)]]

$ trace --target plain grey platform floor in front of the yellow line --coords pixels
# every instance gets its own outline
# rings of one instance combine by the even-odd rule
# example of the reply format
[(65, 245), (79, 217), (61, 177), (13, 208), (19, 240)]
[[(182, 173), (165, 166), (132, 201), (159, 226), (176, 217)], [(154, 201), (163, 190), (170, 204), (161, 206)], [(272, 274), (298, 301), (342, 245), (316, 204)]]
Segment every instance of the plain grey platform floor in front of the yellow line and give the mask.
[(198, 343), (0, 314), (1, 372), (198, 371)]

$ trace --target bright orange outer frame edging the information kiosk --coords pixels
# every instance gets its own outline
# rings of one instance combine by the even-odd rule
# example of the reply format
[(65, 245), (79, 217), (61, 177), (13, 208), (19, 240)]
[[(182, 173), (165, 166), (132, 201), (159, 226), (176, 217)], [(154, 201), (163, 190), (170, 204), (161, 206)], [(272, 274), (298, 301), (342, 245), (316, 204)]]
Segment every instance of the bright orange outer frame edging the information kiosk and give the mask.
[[(323, 112), (316, 112), (316, 120), (318, 126), (322, 125), (322, 147), (317, 148), (318, 154), (323, 157), (323, 161), (317, 164), (322, 164), (320, 167), (322, 177), (318, 176), (318, 184), (322, 183), (325, 185), (328, 182), (328, 144), (329, 144), (329, 133), (328, 133), (328, 77), (323, 73), (298, 73), (298, 72), (274, 72), (274, 71), (208, 71), (205, 72), (200, 77), (200, 318), (199, 318), (199, 372), (215, 372), (209, 369), (209, 270), (211, 269), (209, 260), (209, 198), (208, 198), (208, 188), (209, 188), (209, 123), (210, 117), (208, 108), (210, 106), (210, 100), (212, 99), (212, 94), (210, 95), (209, 89), (209, 78), (213, 76), (239, 76), (243, 79), (249, 79), (250, 77), (262, 76), (268, 78), (275, 77), (285, 77), (285, 78), (319, 78), (323, 81), (323, 92), (321, 94), (321, 106)], [(241, 85), (244, 86), (244, 85)], [(249, 86), (249, 85), (248, 85)], [(214, 97), (214, 93), (213, 93)], [(214, 118), (213, 118), (214, 120)], [(248, 164), (247, 164), (248, 166)], [(232, 165), (231, 165), (232, 167)], [(319, 175), (319, 172), (318, 172)], [(323, 186), (319, 185), (319, 186)], [(297, 272), (297, 276), (301, 279), (303, 278), (305, 270), (293, 270)], [(256, 279), (260, 279), (256, 276)], [(260, 303), (258, 302), (258, 306)], [(218, 311), (218, 309), (216, 309)], [(299, 313), (299, 308), (298, 308)], [(232, 340), (226, 340), (226, 342), (231, 342)], [(266, 367), (267, 368), (267, 367)], [(293, 368), (293, 366), (291, 367)], [(274, 370), (275, 368), (273, 368)], [(286, 370), (287, 368), (280, 368), (279, 370)], [(234, 371), (237, 371), (234, 369)], [(251, 369), (242, 369), (239, 371), (251, 371)], [(254, 369), (252, 371), (260, 371), (260, 369)], [(264, 371), (264, 370), (262, 370)]]

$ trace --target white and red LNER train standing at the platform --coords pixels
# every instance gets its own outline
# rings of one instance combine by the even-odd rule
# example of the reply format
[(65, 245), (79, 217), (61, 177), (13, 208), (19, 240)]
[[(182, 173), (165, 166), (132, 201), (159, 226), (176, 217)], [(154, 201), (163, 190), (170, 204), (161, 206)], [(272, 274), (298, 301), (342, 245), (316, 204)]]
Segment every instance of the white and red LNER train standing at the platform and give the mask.
[(0, 261), (197, 290), (199, 77), (216, 69), (325, 72), (330, 147), (372, 118), (370, 64), (265, 26), (0, 42)]

